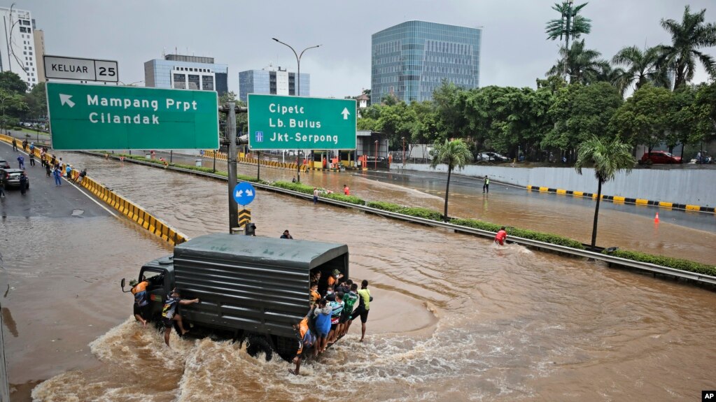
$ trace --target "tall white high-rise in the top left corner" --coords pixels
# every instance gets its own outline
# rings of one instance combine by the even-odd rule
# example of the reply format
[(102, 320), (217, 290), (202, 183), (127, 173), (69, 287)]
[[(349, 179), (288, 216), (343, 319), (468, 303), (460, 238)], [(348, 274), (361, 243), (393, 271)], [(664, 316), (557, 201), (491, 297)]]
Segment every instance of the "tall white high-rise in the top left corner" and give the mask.
[[(39, 82), (34, 44), (34, 21), (30, 11), (0, 7), (0, 71), (14, 72), (32, 88)], [(42, 63), (42, 60), (39, 61)]]

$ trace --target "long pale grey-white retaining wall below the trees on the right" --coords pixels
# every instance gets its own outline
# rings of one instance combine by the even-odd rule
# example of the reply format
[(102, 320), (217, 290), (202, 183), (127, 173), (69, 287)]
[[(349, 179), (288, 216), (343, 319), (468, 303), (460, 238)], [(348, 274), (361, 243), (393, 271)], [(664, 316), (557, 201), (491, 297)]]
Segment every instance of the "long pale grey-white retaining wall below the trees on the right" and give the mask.
[[(402, 164), (392, 165), (400, 170)], [(406, 170), (422, 172), (448, 172), (445, 165), (435, 170), (430, 165), (406, 164)], [(578, 175), (568, 167), (501, 167), (470, 165), (463, 170), (455, 170), (458, 175), (483, 177), (518, 186), (540, 186), (563, 190), (596, 192), (597, 182), (593, 169), (583, 169)], [(604, 195), (620, 195), (627, 198), (675, 202), (678, 204), (716, 207), (716, 170), (713, 169), (635, 169), (626, 175), (619, 172), (614, 180), (606, 182), (601, 189)]]

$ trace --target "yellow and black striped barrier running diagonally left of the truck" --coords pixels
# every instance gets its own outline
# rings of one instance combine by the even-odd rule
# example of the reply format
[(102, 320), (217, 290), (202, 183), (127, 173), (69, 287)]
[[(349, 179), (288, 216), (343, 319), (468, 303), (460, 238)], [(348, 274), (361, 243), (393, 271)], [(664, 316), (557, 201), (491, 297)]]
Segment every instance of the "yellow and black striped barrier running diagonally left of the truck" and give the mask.
[[(8, 143), (12, 143), (13, 137), (0, 134), (0, 140)], [(33, 154), (37, 157), (40, 156), (39, 147), (35, 147)], [(62, 165), (62, 172), (64, 172), (66, 165)], [(77, 180), (79, 177), (79, 170), (72, 169), (68, 179)], [(144, 208), (136, 205), (134, 202), (125, 199), (121, 195), (115, 194), (112, 190), (101, 185), (90, 177), (85, 176), (82, 178), (82, 182), (79, 183), (82, 187), (92, 192), (95, 197), (99, 198), (105, 204), (114, 208), (118, 212), (121, 212), (126, 217), (130, 218), (137, 225), (140, 225), (145, 230), (149, 231), (157, 237), (161, 237), (165, 242), (169, 242), (170, 245), (178, 245), (189, 240), (182, 232), (179, 232), (175, 228), (167, 225), (166, 223), (158, 220), (154, 215), (145, 211)]]

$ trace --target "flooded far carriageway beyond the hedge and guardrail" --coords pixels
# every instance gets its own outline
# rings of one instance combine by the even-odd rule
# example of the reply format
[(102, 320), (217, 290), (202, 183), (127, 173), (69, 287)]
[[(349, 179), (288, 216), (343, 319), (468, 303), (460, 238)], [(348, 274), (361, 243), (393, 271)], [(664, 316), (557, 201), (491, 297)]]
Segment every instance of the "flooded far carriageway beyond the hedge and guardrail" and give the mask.
[[(175, 161), (192, 164), (193, 157), (174, 155)], [(90, 164), (96, 163), (91, 160)], [(204, 166), (213, 161), (204, 160)], [(217, 161), (218, 170), (226, 162)], [(256, 177), (253, 165), (239, 165), (239, 173)], [(263, 180), (291, 181), (296, 172), (261, 167)], [(499, 225), (551, 232), (581, 242), (591, 242), (594, 201), (567, 195), (528, 192), (527, 190), (490, 185), (490, 194), (482, 194), (482, 180), (453, 175), (450, 180), (448, 215), (471, 217)], [(445, 174), (437, 172), (306, 172), (301, 182), (341, 192), (347, 184), (352, 195), (364, 200), (388, 201), (400, 205), (427, 207), (442, 212), (445, 197)], [(659, 212), (658, 224), (654, 214)], [(643, 253), (687, 258), (716, 265), (716, 215), (705, 212), (669, 210), (615, 202), (601, 202), (596, 244), (620, 247)]]

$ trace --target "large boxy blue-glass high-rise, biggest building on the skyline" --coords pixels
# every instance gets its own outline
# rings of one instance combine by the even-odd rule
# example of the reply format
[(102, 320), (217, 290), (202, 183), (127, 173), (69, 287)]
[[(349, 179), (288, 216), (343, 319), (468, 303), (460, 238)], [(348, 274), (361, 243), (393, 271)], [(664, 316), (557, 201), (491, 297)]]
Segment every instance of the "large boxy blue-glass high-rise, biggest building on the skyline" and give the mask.
[(480, 86), (482, 29), (407, 21), (371, 37), (371, 103), (392, 94), (405, 102), (432, 99), (443, 79)]

